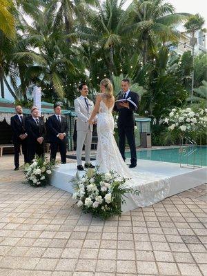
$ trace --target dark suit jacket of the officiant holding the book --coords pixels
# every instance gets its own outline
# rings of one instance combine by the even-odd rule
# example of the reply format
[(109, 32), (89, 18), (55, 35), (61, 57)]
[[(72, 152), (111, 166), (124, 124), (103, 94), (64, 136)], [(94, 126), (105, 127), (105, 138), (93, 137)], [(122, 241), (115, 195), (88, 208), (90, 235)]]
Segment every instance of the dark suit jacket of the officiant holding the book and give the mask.
[[(118, 99), (123, 99), (124, 98), (124, 93), (120, 92)], [(138, 108), (138, 103), (139, 103), (139, 95), (137, 93), (130, 92), (128, 93), (128, 96), (126, 99), (131, 99)], [(119, 118), (117, 121), (118, 126), (135, 126), (135, 116), (134, 112), (137, 110), (135, 106), (132, 105), (132, 103), (129, 102), (129, 108), (120, 108), (117, 110), (117, 107), (115, 106), (114, 110), (119, 111)]]

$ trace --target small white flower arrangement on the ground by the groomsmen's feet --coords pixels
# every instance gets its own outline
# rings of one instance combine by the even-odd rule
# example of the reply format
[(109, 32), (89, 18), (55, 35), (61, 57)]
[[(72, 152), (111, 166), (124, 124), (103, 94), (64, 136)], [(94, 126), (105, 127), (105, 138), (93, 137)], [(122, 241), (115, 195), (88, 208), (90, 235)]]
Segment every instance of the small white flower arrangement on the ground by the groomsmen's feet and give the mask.
[(49, 184), (49, 178), (52, 174), (52, 168), (55, 168), (54, 161), (48, 161), (43, 157), (35, 157), (32, 164), (26, 164), (23, 172), (26, 180), (31, 186), (46, 186)]

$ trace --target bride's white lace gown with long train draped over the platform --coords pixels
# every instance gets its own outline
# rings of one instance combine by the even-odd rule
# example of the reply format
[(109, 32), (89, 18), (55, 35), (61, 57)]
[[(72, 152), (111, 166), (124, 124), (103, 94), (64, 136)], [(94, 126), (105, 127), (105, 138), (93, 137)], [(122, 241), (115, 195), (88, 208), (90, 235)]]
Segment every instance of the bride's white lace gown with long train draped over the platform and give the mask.
[[(163, 175), (152, 175), (148, 172), (137, 172), (130, 169), (124, 162), (113, 135), (115, 122), (112, 117), (113, 106), (108, 108), (101, 99), (99, 114), (97, 115), (97, 166), (101, 172), (114, 170), (121, 177), (129, 177), (127, 185), (135, 190), (140, 190), (137, 195), (130, 194), (136, 206), (148, 206), (167, 197), (170, 188), (170, 179)], [(138, 165), (139, 166), (139, 163)]]

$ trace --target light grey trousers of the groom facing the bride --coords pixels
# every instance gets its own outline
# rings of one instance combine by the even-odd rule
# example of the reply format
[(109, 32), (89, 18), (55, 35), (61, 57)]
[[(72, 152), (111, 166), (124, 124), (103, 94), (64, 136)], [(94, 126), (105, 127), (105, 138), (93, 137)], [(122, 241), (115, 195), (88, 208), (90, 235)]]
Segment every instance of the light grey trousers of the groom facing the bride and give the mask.
[(82, 150), (83, 144), (85, 145), (85, 156), (86, 156), (86, 163), (90, 163), (90, 148), (91, 148), (91, 141), (92, 141), (92, 131), (90, 128), (86, 131), (77, 130), (77, 166), (82, 165)]

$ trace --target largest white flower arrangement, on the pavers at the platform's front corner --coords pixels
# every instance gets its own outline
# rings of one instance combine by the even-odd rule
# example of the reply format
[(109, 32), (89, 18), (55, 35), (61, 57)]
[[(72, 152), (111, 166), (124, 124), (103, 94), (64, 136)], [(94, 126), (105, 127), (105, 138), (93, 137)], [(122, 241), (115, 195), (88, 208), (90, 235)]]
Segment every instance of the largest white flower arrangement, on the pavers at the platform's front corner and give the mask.
[(103, 173), (98, 168), (89, 169), (83, 177), (79, 177), (77, 173), (72, 198), (77, 200), (77, 206), (85, 213), (92, 213), (101, 219), (121, 216), (121, 204), (126, 202), (125, 194), (139, 194), (138, 190), (126, 185), (128, 180), (130, 179), (120, 177), (117, 172)]

